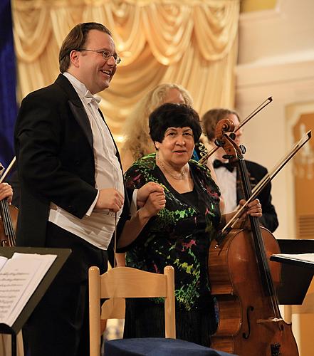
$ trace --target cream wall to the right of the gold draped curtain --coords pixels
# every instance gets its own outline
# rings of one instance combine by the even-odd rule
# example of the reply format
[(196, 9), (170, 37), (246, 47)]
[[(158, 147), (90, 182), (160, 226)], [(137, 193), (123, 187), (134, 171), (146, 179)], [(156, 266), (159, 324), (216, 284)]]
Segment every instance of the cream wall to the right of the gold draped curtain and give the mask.
[[(245, 117), (263, 100), (273, 97), (273, 103), (244, 130), (246, 158), (268, 169), (293, 145), (293, 127), (300, 115), (314, 112), (313, 13), (313, 0), (278, 0), (275, 9), (241, 14), (236, 109)], [(314, 129), (313, 120), (307, 125), (307, 130)], [(279, 219), (276, 237), (295, 239), (292, 163), (274, 179), (272, 194)], [(313, 355), (314, 337), (305, 333), (313, 330), (313, 323), (313, 315), (293, 317), (293, 332), (302, 356)]]

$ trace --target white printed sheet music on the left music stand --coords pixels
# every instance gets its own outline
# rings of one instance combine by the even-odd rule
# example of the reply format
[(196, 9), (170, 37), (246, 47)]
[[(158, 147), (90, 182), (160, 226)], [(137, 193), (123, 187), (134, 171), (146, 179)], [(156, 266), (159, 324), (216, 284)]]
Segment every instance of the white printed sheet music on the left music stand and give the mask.
[(56, 257), (14, 253), (0, 267), (0, 323), (14, 324)]

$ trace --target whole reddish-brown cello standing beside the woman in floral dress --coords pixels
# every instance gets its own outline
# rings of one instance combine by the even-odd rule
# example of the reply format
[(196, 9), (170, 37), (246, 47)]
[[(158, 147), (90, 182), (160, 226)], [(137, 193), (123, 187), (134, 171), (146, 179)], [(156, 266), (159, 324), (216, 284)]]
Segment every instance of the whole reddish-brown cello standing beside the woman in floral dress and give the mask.
[[(251, 185), (243, 158), (244, 148), (225, 132), (234, 123), (218, 122), (216, 141), (224, 147), (229, 162), (238, 164), (245, 198)], [(219, 324), (211, 336), (211, 347), (240, 356), (297, 356), (291, 323), (281, 317), (276, 295), (281, 267), (269, 261), (280, 249), (274, 236), (249, 216), (251, 229), (227, 229), (225, 236), (211, 241), (209, 281), (219, 308)], [(217, 244), (218, 242), (218, 244)]]

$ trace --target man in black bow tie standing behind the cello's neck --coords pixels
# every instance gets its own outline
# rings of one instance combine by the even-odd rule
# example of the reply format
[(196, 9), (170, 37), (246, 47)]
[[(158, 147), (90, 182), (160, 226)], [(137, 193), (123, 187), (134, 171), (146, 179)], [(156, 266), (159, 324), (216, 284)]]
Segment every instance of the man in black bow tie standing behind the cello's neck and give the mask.
[[(217, 122), (222, 119), (229, 119), (234, 122), (235, 127), (240, 124), (240, 118), (236, 111), (218, 108), (207, 111), (202, 117), (202, 125), (205, 135), (211, 145), (214, 146), (215, 130)], [(235, 142), (237, 145), (241, 144), (242, 130), (236, 132)], [(241, 180), (239, 177), (239, 169), (232, 167), (228, 160), (223, 156), (226, 155), (223, 148), (219, 148), (215, 152), (215, 157), (211, 163), (214, 164), (214, 170), (216, 172), (217, 182), (219, 189), (221, 190), (221, 196), (224, 197), (225, 213), (234, 211), (238, 206), (239, 201), (244, 198), (244, 192), (241, 187)], [(265, 177), (268, 173), (267, 169), (261, 164), (246, 160), (246, 168), (251, 182), (251, 187)], [(258, 199), (261, 201), (263, 209), (263, 216), (261, 216), (261, 224), (269, 231), (273, 232), (278, 227), (278, 218), (276, 209), (271, 204), (271, 183), (268, 183), (263, 191), (258, 195)]]

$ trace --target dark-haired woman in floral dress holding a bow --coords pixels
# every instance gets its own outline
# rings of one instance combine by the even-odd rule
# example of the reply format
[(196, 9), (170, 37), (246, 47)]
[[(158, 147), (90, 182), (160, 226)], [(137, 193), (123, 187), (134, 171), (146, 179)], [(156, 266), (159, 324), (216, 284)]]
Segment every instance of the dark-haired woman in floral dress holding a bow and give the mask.
[[(127, 221), (118, 248), (127, 251), (127, 266), (153, 273), (174, 267), (177, 337), (209, 346), (216, 329), (209, 245), (233, 214), (221, 216), (211, 172), (191, 159), (202, 133), (197, 112), (167, 103), (150, 114), (149, 125), (157, 152), (132, 164), (125, 181), (129, 189), (155, 182), (164, 194), (150, 194), (137, 216)], [(261, 216), (257, 199), (248, 204), (248, 214)], [(162, 303), (162, 298), (127, 300), (124, 337), (163, 337)]]

